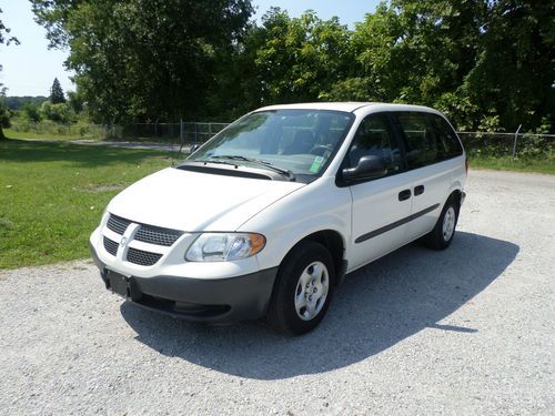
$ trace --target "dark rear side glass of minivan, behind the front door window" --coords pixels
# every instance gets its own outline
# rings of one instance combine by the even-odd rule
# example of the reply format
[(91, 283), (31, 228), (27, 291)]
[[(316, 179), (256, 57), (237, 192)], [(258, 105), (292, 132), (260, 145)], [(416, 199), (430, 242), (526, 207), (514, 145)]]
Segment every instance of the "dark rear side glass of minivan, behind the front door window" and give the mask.
[(437, 163), (463, 153), (451, 126), (436, 114), (396, 113), (404, 134), (408, 169)]

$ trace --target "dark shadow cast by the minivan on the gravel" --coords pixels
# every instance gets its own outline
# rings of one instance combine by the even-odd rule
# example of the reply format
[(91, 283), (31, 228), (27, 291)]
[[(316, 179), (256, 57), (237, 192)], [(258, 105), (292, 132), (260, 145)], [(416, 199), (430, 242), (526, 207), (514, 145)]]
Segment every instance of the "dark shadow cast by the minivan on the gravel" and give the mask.
[(480, 327), (438, 324), (497, 278), (518, 246), (458, 232), (450, 250), (408, 245), (345, 278), (314, 332), (285, 338), (256, 324), (188, 324), (124, 303), (137, 339), (218, 372), (280, 379), (349, 366), (426, 327), (473, 336)]

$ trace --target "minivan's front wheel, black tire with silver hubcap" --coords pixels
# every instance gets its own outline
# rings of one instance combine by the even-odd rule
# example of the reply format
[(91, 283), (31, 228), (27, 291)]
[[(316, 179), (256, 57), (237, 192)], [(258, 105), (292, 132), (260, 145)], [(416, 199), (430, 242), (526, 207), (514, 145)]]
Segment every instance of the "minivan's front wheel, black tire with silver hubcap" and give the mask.
[(327, 248), (311, 241), (300, 243), (280, 266), (266, 321), (283, 334), (306, 334), (327, 312), (334, 286)]

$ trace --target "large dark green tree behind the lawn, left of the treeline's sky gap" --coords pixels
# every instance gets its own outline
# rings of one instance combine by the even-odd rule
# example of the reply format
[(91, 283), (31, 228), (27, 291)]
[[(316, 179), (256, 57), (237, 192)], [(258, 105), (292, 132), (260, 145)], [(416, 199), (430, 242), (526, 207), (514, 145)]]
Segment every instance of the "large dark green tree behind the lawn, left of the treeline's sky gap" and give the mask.
[(51, 45), (70, 49), (67, 65), (102, 122), (200, 113), (253, 11), (249, 0), (31, 2)]

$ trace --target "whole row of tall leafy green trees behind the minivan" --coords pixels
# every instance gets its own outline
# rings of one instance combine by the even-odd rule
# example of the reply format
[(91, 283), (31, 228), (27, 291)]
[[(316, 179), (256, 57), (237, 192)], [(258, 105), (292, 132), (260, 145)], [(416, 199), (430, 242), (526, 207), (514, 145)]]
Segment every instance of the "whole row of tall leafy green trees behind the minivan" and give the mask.
[(555, 125), (554, 1), (392, 0), (353, 30), (276, 8), (256, 24), (249, 0), (31, 2), (95, 122), (356, 100), (432, 105), (460, 130)]

